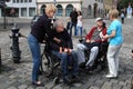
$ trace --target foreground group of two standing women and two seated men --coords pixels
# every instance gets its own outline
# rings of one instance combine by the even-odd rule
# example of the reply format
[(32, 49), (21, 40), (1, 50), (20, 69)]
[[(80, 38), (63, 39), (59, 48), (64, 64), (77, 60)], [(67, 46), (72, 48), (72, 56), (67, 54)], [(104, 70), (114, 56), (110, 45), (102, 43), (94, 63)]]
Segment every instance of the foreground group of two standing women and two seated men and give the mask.
[[(28, 41), (33, 58), (32, 83), (41, 86), (39, 81), (39, 67), (41, 63), (40, 43), (43, 42), (45, 36), (49, 37), (50, 50), (53, 55), (61, 59), (61, 69), (63, 81), (70, 83), (71, 80), (79, 79), (79, 65), (85, 62), (84, 50), (90, 50), (90, 59), (85, 63), (85, 69), (90, 70), (99, 52), (99, 43), (109, 40), (108, 63), (109, 75), (106, 78), (116, 78), (119, 75), (119, 52), (123, 43), (122, 24), (117, 20), (119, 11), (111, 10), (109, 12), (111, 26), (106, 29), (102, 18), (95, 20), (96, 26), (86, 34), (83, 43), (76, 44), (76, 50), (73, 50), (71, 33), (64, 28), (61, 20), (57, 20), (51, 28), (51, 20), (57, 9), (53, 4), (45, 8), (45, 13), (38, 19), (33, 24), (29, 34)], [(70, 14), (71, 16), (71, 14)], [(71, 16), (73, 17), (73, 16)], [(81, 19), (79, 17), (78, 19)], [(74, 24), (74, 23), (73, 23)], [(68, 61), (72, 58), (73, 63), (71, 72), (69, 71)], [(71, 79), (69, 75), (71, 73)]]

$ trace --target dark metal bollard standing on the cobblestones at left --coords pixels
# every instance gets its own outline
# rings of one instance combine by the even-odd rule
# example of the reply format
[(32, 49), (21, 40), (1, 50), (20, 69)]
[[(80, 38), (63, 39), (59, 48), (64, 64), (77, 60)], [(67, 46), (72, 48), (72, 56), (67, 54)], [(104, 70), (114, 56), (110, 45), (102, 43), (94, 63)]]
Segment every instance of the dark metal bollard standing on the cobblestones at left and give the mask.
[(12, 60), (14, 63), (19, 63), (20, 59), (21, 59), (21, 51), (20, 51), (20, 47), (19, 47), (19, 37), (21, 37), (21, 34), (19, 33), (18, 28), (12, 28), (12, 34), (10, 34), (11, 38), (11, 51), (12, 51)]

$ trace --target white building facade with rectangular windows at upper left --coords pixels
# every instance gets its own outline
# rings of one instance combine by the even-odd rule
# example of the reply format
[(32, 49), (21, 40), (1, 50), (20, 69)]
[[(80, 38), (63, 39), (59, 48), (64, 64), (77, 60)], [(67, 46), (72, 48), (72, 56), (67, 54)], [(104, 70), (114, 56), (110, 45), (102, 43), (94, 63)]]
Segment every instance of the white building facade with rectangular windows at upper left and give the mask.
[[(12, 13), (14, 17), (19, 18), (32, 18), (37, 13), (37, 3), (35, 0), (10, 0), (7, 4), (7, 16), (11, 17)], [(0, 11), (3, 16), (3, 10)]]

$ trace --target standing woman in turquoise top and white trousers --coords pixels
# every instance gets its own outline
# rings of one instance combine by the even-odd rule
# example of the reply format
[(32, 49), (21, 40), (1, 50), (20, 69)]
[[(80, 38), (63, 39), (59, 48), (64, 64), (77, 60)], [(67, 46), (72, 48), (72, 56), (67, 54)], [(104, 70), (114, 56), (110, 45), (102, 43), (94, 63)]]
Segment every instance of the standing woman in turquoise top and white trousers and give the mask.
[(108, 63), (109, 75), (106, 78), (116, 78), (119, 75), (119, 53), (123, 43), (122, 23), (119, 21), (119, 11), (113, 9), (109, 12), (110, 20), (112, 21), (106, 36), (103, 38), (109, 39), (108, 48)]

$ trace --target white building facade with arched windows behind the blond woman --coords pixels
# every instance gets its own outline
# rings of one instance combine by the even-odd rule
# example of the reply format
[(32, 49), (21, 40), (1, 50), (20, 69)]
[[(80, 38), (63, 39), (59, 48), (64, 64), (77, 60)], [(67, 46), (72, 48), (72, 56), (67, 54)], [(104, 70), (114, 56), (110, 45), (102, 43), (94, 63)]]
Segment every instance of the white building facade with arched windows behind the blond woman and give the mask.
[(42, 14), (44, 12), (44, 8), (50, 3), (55, 3), (58, 9), (57, 16), (69, 17), (73, 8), (81, 10), (82, 0), (37, 0), (37, 13)]

